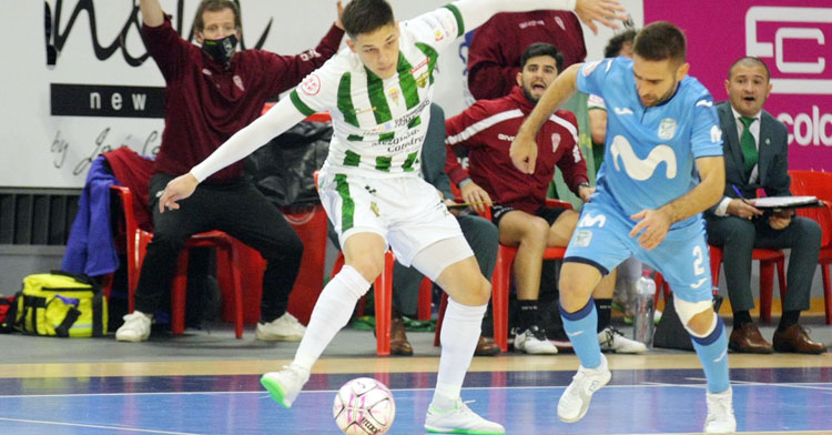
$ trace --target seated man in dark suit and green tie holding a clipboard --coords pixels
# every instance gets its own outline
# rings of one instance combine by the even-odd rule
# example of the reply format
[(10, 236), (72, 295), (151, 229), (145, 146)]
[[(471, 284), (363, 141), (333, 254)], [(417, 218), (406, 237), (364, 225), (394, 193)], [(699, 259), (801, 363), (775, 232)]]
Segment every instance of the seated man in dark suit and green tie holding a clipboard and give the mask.
[[(758, 58), (741, 58), (726, 80), (729, 100), (717, 104), (726, 150), (726, 190), (722, 200), (706, 214), (708, 241), (722, 246), (728, 296), (733, 310), (733, 330), (728, 347), (740, 353), (826, 351), (813, 342), (798, 322), (809, 308), (812, 277), (821, 249), (821, 229), (793, 210), (763, 213), (747, 199), (757, 190), (767, 196), (789, 196), (789, 140), (782, 122), (763, 110), (771, 92), (769, 69)], [(740, 196), (740, 193), (742, 194)], [(754, 247), (791, 249), (782, 300), (783, 315), (772, 346), (751, 321), (751, 253)], [(730, 254), (729, 254), (730, 253)]]

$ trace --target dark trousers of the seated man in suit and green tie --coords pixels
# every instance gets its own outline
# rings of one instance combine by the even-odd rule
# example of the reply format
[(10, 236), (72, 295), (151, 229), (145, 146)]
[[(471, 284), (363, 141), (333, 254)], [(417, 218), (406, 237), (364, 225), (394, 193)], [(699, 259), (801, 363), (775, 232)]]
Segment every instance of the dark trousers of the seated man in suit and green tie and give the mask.
[(773, 230), (768, 219), (748, 221), (737, 216), (708, 216), (708, 243), (721, 246), (728, 296), (734, 312), (754, 307), (751, 295), (751, 251), (791, 249), (783, 311), (809, 310), (812, 279), (821, 249), (821, 227), (816, 222), (794, 216), (783, 230)]

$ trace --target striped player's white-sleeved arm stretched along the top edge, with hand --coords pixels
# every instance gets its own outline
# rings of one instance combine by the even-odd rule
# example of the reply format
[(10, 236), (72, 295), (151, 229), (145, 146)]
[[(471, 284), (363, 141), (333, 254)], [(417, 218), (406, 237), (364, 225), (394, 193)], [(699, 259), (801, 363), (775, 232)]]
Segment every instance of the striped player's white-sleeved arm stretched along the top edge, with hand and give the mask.
[(457, 0), (453, 3), (463, 16), (465, 31), (474, 30), (499, 12), (527, 12), (540, 9), (574, 10), (592, 32), (596, 21), (618, 29), (616, 20), (628, 19), (618, 0)]

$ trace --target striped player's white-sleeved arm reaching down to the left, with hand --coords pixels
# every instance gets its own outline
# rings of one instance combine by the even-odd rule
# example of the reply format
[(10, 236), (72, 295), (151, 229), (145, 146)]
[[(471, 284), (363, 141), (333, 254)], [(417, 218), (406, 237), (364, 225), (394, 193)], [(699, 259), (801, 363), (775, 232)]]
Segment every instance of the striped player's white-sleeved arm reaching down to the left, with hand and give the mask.
[(272, 138), (283, 134), (286, 130), (306, 118), (301, 113), (292, 100), (283, 99), (266, 114), (260, 117), (243, 130), (234, 133), (225, 143), (220, 145), (202, 163), (193, 166), (191, 172), (177, 176), (168, 183), (159, 200), (159, 211), (176, 210), (176, 201), (184, 200), (196, 190), (203, 180), (216, 171), (245, 158), (254, 150), (266, 144)]

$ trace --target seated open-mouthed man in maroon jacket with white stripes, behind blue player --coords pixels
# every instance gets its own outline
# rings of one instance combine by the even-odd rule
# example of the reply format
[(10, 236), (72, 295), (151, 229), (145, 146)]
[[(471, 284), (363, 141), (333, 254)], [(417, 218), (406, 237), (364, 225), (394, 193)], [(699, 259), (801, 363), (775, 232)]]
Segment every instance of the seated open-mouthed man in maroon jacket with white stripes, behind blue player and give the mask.
[[(529, 45), (520, 58), (520, 71), (515, 75), (517, 85), (511, 93), (497, 100), (480, 100), (445, 124), (448, 146), (469, 148), (469, 174), (461, 169), (456, 154), (448, 152), (446, 171), (450, 180), (459, 185), (466, 202), (493, 201), (491, 213), (500, 243), (517, 246), (514, 273), (520, 314), (515, 350), (530, 354), (557, 353), (538, 316), (542, 256), (547, 246), (566, 246), (578, 224), (578, 212), (545, 205), (555, 166), (560, 168), (566, 183), (584, 201), (589, 201), (595, 191), (589, 186), (587, 163), (578, 146), (577, 121), (571, 112), (555, 112), (540, 130), (534, 174), (521, 173), (509, 156), (517, 130), (562, 64), (555, 45), (544, 42)], [(601, 313), (599, 341), (605, 348), (619, 353), (645, 352), (643, 344), (625, 338), (609, 326), (615, 283), (613, 272), (595, 292)]]

